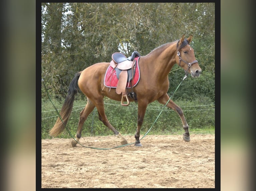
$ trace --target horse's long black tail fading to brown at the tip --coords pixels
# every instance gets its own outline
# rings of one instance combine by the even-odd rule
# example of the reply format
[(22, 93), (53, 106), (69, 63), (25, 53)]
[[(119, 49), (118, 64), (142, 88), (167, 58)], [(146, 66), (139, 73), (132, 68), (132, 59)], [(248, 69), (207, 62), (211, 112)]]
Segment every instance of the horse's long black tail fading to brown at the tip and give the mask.
[[(78, 87), (78, 79), (81, 75), (81, 72), (77, 73), (73, 80), (70, 83), (69, 90), (68, 90), (68, 95), (64, 101), (64, 104), (61, 108), (60, 111), (60, 116), (66, 125), (68, 123), (72, 108), (73, 108), (73, 103), (75, 100), (75, 95), (77, 94), (79, 87)], [(55, 125), (52, 127), (52, 129), (49, 131), (50, 136), (57, 136), (60, 134), (64, 129), (65, 125), (63, 124), (61, 119), (58, 117)]]

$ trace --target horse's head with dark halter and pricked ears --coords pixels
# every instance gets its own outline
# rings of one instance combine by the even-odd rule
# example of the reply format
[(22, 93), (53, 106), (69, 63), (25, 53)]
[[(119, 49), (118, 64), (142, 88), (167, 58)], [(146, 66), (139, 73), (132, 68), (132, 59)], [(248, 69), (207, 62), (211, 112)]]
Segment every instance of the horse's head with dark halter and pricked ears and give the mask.
[(202, 70), (195, 58), (194, 49), (189, 46), (192, 41), (192, 35), (188, 39), (185, 39), (184, 36), (177, 42), (176, 63), (179, 63), (179, 66), (185, 70), (186, 74), (190, 73), (192, 77), (199, 77)]

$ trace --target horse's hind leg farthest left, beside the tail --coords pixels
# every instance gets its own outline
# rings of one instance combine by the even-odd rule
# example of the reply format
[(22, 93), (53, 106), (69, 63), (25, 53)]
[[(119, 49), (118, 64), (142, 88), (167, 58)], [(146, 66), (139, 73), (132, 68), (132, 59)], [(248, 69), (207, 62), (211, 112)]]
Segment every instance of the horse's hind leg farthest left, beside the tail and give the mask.
[(73, 147), (77, 145), (79, 139), (81, 138), (83, 124), (84, 124), (85, 120), (87, 119), (88, 115), (93, 111), (94, 107), (95, 107), (94, 103), (90, 99), (87, 98), (87, 104), (86, 104), (85, 108), (80, 112), (76, 140), (73, 139), (71, 142)]

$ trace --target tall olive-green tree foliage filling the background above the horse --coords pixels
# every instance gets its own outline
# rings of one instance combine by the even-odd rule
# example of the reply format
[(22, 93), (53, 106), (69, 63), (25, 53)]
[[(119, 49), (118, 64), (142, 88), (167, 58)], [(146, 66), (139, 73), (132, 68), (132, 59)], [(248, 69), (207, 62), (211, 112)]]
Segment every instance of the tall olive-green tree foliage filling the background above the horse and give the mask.
[[(191, 47), (209, 77), (197, 86), (215, 79), (214, 3), (42, 3), (41, 26), (41, 75), (56, 98), (66, 96), (76, 72), (109, 62), (114, 52), (146, 55), (183, 34), (194, 36)], [(170, 73), (170, 86), (183, 78), (177, 74)]]

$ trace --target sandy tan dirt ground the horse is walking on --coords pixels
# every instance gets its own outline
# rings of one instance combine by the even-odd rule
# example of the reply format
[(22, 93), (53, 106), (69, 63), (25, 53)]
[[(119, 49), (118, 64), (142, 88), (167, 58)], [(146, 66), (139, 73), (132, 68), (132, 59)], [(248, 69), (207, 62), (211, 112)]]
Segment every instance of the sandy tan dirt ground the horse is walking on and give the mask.
[[(141, 135), (140, 137), (142, 137)], [(128, 143), (134, 136), (124, 135)], [(215, 135), (147, 135), (99, 150), (71, 139), (41, 140), (42, 188), (215, 188)], [(82, 137), (88, 147), (113, 148), (119, 138)]]

